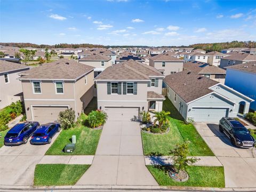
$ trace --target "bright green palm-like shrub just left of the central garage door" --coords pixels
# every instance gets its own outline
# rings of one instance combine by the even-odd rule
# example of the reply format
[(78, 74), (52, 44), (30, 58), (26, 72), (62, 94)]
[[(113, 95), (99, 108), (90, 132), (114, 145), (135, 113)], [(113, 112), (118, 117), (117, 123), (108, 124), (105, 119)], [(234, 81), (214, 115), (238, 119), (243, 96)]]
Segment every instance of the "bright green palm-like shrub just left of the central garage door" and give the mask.
[(101, 110), (91, 111), (88, 115), (87, 122), (90, 127), (98, 127), (106, 123), (108, 116)]

